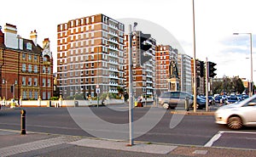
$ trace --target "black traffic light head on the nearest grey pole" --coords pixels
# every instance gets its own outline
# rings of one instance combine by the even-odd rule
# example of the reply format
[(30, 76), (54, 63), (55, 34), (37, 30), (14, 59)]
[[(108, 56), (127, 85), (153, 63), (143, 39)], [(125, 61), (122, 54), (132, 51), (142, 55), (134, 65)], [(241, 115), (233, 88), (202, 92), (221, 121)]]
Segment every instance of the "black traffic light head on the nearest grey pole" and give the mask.
[(152, 56), (144, 55), (145, 52), (148, 51), (148, 49), (152, 48), (152, 46), (149, 43), (145, 43), (150, 37), (150, 34), (143, 34), (140, 33), (139, 36), (139, 43), (140, 43), (140, 64), (143, 66), (145, 62), (147, 62), (149, 59), (152, 58)]

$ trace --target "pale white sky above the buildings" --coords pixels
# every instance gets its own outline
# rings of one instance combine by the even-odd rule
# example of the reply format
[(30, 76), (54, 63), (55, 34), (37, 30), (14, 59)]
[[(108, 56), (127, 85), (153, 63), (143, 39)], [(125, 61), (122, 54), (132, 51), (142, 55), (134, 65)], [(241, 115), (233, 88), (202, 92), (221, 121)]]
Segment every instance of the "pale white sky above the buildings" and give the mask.
[[(195, 58), (216, 63), (218, 77), (240, 76), (249, 81), (251, 45), (249, 35), (243, 33), (252, 33), (256, 82), (256, 1), (194, 0), (194, 4)], [(175, 37), (184, 53), (194, 57), (193, 0), (8, 0), (0, 6), (2, 27), (6, 23), (16, 25), (23, 38), (29, 38), (30, 32), (37, 30), (38, 44), (42, 46), (44, 38), (49, 38), (55, 59), (57, 25), (93, 14), (106, 14), (115, 20), (148, 20), (160, 25)]]

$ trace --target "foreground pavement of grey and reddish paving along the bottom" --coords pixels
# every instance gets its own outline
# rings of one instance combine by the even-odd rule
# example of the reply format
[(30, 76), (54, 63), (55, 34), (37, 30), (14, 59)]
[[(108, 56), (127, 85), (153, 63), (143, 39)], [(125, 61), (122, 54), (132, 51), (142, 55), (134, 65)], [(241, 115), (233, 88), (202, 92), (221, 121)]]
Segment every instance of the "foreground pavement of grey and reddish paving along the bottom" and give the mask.
[(0, 129), (0, 156), (256, 156), (255, 149), (117, 141), (44, 132)]

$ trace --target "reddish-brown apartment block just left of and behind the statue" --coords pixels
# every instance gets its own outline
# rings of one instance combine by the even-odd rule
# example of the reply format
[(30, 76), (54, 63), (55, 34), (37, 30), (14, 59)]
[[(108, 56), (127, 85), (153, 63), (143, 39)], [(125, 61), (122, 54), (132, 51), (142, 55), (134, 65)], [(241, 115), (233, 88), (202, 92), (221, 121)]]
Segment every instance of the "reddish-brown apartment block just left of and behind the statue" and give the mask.
[(177, 49), (173, 49), (170, 45), (158, 45), (156, 47), (156, 93), (168, 91), (168, 79), (170, 78), (171, 61), (177, 63)]

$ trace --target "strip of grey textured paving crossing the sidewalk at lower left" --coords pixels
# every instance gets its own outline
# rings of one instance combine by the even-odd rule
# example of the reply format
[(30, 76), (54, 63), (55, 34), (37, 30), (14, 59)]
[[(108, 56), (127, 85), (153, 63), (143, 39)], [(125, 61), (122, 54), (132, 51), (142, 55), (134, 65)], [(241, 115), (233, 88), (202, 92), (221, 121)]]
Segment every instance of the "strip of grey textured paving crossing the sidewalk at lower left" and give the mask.
[(63, 144), (63, 143), (70, 143), (76, 141), (78, 139), (74, 139), (73, 137), (52, 137), (48, 139), (38, 140), (31, 143), (22, 143), (14, 146), (4, 147), (0, 149), (0, 156), (10, 156), (14, 154), (20, 154), (29, 152), (32, 150), (37, 149), (44, 149), (47, 147)]

